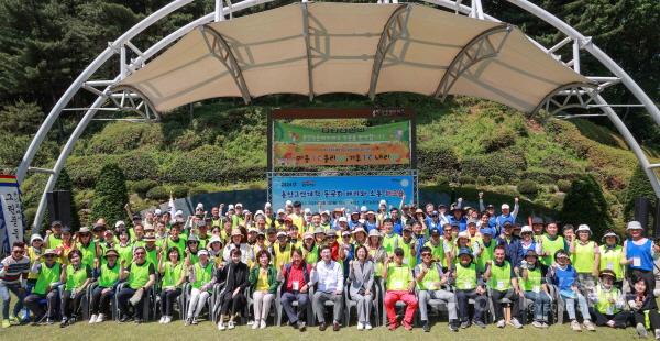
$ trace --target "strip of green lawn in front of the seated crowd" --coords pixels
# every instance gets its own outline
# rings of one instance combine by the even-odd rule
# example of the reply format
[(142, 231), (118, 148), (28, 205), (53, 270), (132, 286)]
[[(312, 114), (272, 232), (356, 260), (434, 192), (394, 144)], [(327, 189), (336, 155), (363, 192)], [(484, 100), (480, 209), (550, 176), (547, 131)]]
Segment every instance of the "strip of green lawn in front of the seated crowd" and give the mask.
[(385, 328), (376, 328), (372, 331), (358, 331), (355, 327), (342, 328), (339, 332), (331, 329), (320, 332), (317, 328), (308, 328), (304, 333), (294, 330), (290, 327), (268, 327), (265, 330), (251, 330), (246, 326), (239, 326), (232, 331), (218, 331), (210, 322), (202, 321), (199, 326), (185, 327), (182, 321), (176, 321), (167, 326), (157, 322), (133, 324), (103, 322), (89, 326), (86, 322), (78, 322), (74, 326), (61, 329), (58, 324), (48, 327), (21, 326), (0, 330), (0, 340), (110, 340), (116, 338), (122, 340), (212, 340), (212, 339), (233, 339), (233, 340), (323, 340), (328, 338), (341, 338), (342, 340), (359, 340), (364, 338), (381, 339), (386, 338), (406, 338), (407, 340), (438, 340), (455, 339), (461, 340), (617, 340), (637, 338), (634, 328), (626, 330), (613, 330), (609, 328), (598, 328), (596, 332), (573, 332), (569, 324), (550, 327), (547, 330), (525, 327), (522, 330), (514, 330), (508, 327), (504, 330), (497, 329), (494, 324), (485, 330), (470, 328), (452, 333), (447, 329), (447, 323), (439, 322), (433, 326), (431, 332), (425, 333), (421, 328), (415, 328), (408, 332), (403, 328), (391, 332)]

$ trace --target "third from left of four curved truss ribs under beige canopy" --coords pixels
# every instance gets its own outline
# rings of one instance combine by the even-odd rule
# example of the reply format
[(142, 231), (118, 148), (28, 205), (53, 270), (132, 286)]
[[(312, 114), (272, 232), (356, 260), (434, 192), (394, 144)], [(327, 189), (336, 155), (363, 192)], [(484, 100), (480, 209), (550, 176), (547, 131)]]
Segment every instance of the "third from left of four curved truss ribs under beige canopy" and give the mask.
[(387, 52), (394, 46), (397, 40), (406, 34), (408, 25), (408, 16), (410, 15), (411, 7), (409, 4), (400, 4), (397, 7), (383, 28), (381, 40), (376, 45), (374, 55), (374, 65), (372, 67), (371, 82), (369, 85), (369, 97), (373, 100), (376, 97), (376, 87), (378, 86), (378, 76)]

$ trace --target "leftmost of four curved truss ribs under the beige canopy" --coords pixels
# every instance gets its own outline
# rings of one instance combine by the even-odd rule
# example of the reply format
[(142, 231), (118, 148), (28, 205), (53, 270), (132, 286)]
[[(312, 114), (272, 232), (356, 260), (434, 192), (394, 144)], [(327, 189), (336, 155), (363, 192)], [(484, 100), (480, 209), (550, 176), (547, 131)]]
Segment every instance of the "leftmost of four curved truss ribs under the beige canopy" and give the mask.
[[(252, 97), (250, 96), (250, 90), (248, 89), (245, 78), (243, 78), (243, 73), (241, 72), (239, 62), (237, 62), (233, 52), (229, 47), (229, 44), (227, 44), (227, 41), (224, 41), (222, 34), (220, 34), (220, 32), (216, 31), (213, 28), (209, 25), (204, 25), (200, 28), (200, 30), (201, 35), (204, 36), (204, 40), (207, 44), (207, 47), (209, 48), (209, 52), (218, 61), (220, 61), (220, 63), (222, 63), (224, 67), (227, 67), (227, 70), (229, 70), (229, 75), (233, 78), (234, 82), (237, 84), (237, 87), (241, 91), (245, 105), (249, 105), (252, 100)], [(207, 33), (209, 33), (213, 37), (212, 41), (209, 40)]]

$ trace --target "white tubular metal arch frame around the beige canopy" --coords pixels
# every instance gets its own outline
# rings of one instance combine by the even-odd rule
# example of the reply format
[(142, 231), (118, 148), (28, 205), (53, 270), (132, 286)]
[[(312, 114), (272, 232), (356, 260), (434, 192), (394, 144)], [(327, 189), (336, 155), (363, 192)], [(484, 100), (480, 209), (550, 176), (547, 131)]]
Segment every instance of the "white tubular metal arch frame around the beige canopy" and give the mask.
[[(119, 38), (117, 38), (116, 41), (110, 43), (109, 46), (102, 53), (100, 53), (78, 75), (78, 77), (74, 80), (74, 82), (69, 86), (69, 88), (64, 92), (64, 95), (59, 98), (57, 103), (50, 111), (48, 116), (46, 117), (46, 119), (44, 120), (42, 125), (40, 127), (38, 131), (34, 135), (32, 142), (30, 143), (30, 146), (28, 147), (25, 155), (23, 156), (21, 164), (16, 170), (16, 176), (19, 178), (19, 182), (21, 182), (21, 183), (24, 180), (26, 172), (29, 169), (34, 170), (34, 172), (43, 172), (43, 173), (50, 174), (50, 178), (44, 188), (44, 191), (42, 195), (42, 200), (40, 201), (37, 215), (35, 217), (33, 226), (36, 227), (41, 223), (41, 220), (43, 219), (43, 212), (45, 210), (45, 195), (47, 191), (53, 189), (55, 182), (57, 179), (57, 176), (59, 175), (59, 172), (64, 167), (66, 158), (70, 154), (76, 141), (80, 138), (80, 135), (82, 134), (82, 132), (85, 131), (85, 129), (87, 128), (89, 122), (94, 120), (94, 117), (96, 116), (97, 111), (99, 109), (101, 109), (100, 106), (109, 97), (116, 96), (116, 95), (111, 94), (111, 91), (112, 91), (111, 85), (117, 84), (118, 81), (123, 79), (123, 77), (127, 76), (128, 74), (143, 67), (144, 63), (146, 61), (148, 61), (151, 57), (153, 57), (156, 53), (158, 53), (163, 48), (167, 47), (169, 44), (177, 41), (178, 38), (184, 36), (186, 33), (193, 31), (195, 28), (207, 24), (209, 22), (212, 22), (213, 20), (215, 21), (224, 20), (227, 12), (229, 12), (229, 18), (231, 19), (233, 16), (232, 14), (234, 11), (240, 11), (240, 10), (251, 8), (251, 7), (254, 7), (257, 4), (271, 2), (272, 0), (244, 0), (244, 1), (241, 1), (235, 4), (232, 4), (229, 2), (228, 3), (229, 6), (227, 6), (227, 7), (223, 7), (221, 0), (216, 0), (216, 11), (213, 13), (209, 13), (207, 15), (204, 15), (199, 19), (191, 21), (190, 23), (182, 26), (180, 29), (178, 29), (175, 32), (170, 33), (169, 35), (165, 36), (161, 41), (156, 42), (148, 50), (146, 50), (144, 52), (139, 51), (130, 42), (133, 37), (135, 37), (138, 34), (142, 33), (144, 30), (146, 30), (147, 28), (150, 28), (151, 25), (156, 23), (158, 20), (172, 14), (174, 11), (183, 8), (186, 4), (189, 4), (193, 1), (194, 0), (174, 0), (174, 1), (172, 1), (170, 3), (164, 6), (160, 10), (155, 11), (151, 15), (143, 19), (141, 22), (139, 22), (133, 28), (128, 30), (124, 34), (122, 34)], [(470, 15), (472, 18), (477, 18), (481, 20), (501, 22), (498, 19), (483, 12), (480, 0), (472, 0), (471, 1), (472, 4), (470, 7), (462, 4), (461, 3), (462, 0), (458, 0), (458, 1), (420, 0), (420, 1), (431, 3), (431, 4), (435, 4), (438, 7), (442, 7), (448, 10), (451, 10), (451, 11), (455, 11), (457, 14), (465, 14), (465, 15)], [(516, 7), (520, 8), (521, 10), (535, 15), (537, 19), (544, 21), (546, 23), (550, 24), (559, 32), (566, 35), (566, 38), (564, 40), (564, 41), (566, 41), (566, 43), (571, 42), (571, 41), (573, 42), (573, 61), (571, 61), (569, 63), (564, 63), (565, 65), (573, 66), (573, 68), (575, 70), (580, 72), (580, 58), (579, 58), (580, 50), (585, 50), (591, 55), (593, 55), (598, 62), (601, 62), (601, 64), (603, 64), (612, 74), (614, 74), (616, 76), (616, 77), (590, 77), (590, 78), (610, 78), (612, 80), (608, 82), (612, 82), (612, 84), (620, 81), (641, 102), (641, 106), (644, 106), (644, 108), (647, 109), (647, 111), (651, 114), (651, 117), (653, 118), (656, 123), (660, 124), (660, 110), (658, 109), (658, 107), (654, 106), (652, 100), (644, 92), (644, 90), (641, 90), (641, 88), (635, 82), (635, 80), (632, 80), (632, 78), (623, 68), (620, 68), (609, 56), (607, 56), (607, 54), (605, 54), (595, 44), (593, 44), (593, 42), (591, 42), (591, 38), (583, 36), (580, 32), (578, 32), (576, 30), (571, 28), (569, 24), (561, 21), (560, 19), (552, 15), (551, 13), (547, 12), (546, 10), (539, 8), (538, 6), (531, 3), (530, 1), (526, 1), (526, 0), (507, 0), (507, 1)], [(302, 2), (307, 2), (307, 1), (302, 0)], [(389, 2), (389, 1), (378, 1), (378, 2), (381, 3), (381, 2)], [(392, 1), (392, 2), (397, 3), (398, 1)], [(546, 48), (544, 46), (542, 46), (535, 40), (532, 40), (530, 37), (528, 37), (528, 38), (532, 44), (535, 44), (541, 51), (548, 53), (549, 55), (553, 56), (556, 59), (561, 62), (561, 58), (553, 54), (553, 52), (557, 50), (552, 50), (552, 47)], [(130, 64), (127, 63), (127, 61), (125, 61), (125, 48), (127, 47), (131, 48), (132, 51), (134, 51), (138, 54), (138, 57), (135, 59), (131, 61)], [(121, 63), (120, 64), (120, 74), (114, 79), (111, 79), (111, 80), (90, 80), (91, 77), (94, 76), (94, 74), (116, 54), (120, 55), (120, 63)], [(106, 86), (106, 88), (103, 91), (99, 91), (100, 94), (95, 92), (95, 95), (97, 95), (97, 99), (88, 108), (85, 116), (78, 122), (78, 125), (76, 127), (76, 129), (74, 130), (74, 132), (72, 133), (69, 139), (67, 140), (57, 161), (55, 162), (53, 169), (41, 169), (41, 168), (36, 168), (36, 167), (31, 167), (30, 165), (34, 158), (34, 155), (36, 154), (36, 151), (43, 143), (46, 134), (52, 129), (54, 122), (57, 120), (57, 118), (59, 117), (62, 111), (66, 110), (66, 106), (70, 102), (73, 97), (80, 89), (84, 88), (85, 85), (91, 85), (91, 84), (96, 84), (97, 86)], [(603, 87), (603, 86), (604, 85), (602, 85), (601, 87)], [(145, 102), (145, 103), (148, 105), (148, 102)], [(616, 112), (612, 109), (614, 106), (608, 105), (600, 94), (596, 96), (596, 103), (609, 117), (609, 119), (613, 121), (613, 123), (615, 124), (615, 127), (617, 128), (619, 133), (622, 133), (622, 135), (626, 140), (628, 146), (632, 150), (632, 152), (637, 156), (639, 163), (641, 164), (642, 168), (645, 169), (647, 176), (649, 177), (649, 180), (651, 182), (651, 185), (653, 186), (656, 195), (658, 197), (660, 197), (660, 183), (659, 183), (658, 176), (653, 172), (653, 168), (660, 167), (660, 164), (650, 164), (649, 163), (646, 154), (644, 153), (644, 151), (641, 150), (641, 147), (639, 146), (639, 144), (637, 143), (637, 141), (635, 140), (635, 138), (632, 136), (630, 131), (627, 129), (625, 123), (618, 118)], [(154, 111), (154, 114), (157, 114), (157, 112)]]

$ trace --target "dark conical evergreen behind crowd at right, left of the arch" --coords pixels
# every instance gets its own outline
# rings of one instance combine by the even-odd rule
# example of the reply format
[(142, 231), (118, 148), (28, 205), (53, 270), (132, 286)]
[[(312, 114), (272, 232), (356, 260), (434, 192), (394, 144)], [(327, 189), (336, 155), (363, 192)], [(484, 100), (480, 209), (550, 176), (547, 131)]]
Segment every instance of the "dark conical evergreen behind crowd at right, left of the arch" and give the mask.
[(614, 228), (605, 196), (592, 175), (583, 175), (573, 182), (564, 198), (559, 220), (573, 226), (587, 224), (595, 240), (600, 240), (603, 232)]

